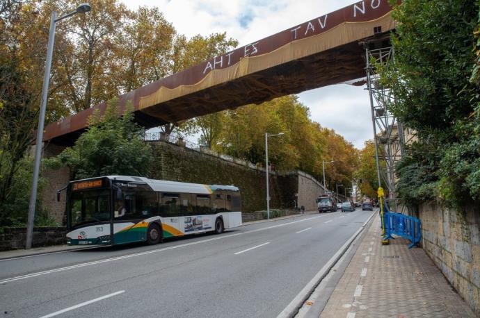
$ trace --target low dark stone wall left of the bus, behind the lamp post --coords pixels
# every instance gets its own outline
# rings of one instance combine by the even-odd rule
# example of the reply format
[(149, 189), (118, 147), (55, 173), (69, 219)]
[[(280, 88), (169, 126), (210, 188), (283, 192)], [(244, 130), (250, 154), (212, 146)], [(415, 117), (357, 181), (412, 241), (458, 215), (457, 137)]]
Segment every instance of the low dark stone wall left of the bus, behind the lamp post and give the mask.
[[(64, 227), (33, 228), (32, 247), (66, 244), (67, 233)], [(0, 251), (10, 249), (24, 249), (26, 242), (26, 228), (5, 228), (0, 234)]]

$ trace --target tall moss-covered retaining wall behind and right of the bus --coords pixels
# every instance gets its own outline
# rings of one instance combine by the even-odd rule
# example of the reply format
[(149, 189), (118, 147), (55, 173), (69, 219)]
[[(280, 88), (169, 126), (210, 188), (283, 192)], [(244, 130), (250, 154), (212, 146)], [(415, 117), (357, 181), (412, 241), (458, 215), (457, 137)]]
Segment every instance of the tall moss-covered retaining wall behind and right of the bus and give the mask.
[[(242, 196), (242, 211), (266, 209), (266, 178), (263, 169), (252, 169), (166, 142), (152, 143), (154, 167), (151, 178), (203, 184), (236, 185)], [(294, 208), (298, 176), (270, 174), (271, 208)]]

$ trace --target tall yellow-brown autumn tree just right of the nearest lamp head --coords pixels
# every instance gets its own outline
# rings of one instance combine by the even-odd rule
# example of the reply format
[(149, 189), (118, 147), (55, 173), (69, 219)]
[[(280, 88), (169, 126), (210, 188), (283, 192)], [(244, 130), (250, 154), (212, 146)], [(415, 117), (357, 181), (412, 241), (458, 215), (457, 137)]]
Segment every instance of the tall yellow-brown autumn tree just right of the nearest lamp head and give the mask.
[[(95, 8), (87, 15), (75, 15), (67, 24), (59, 24), (65, 34), (65, 49), (58, 51), (61, 81), (66, 81), (65, 96), (70, 108), (79, 112), (120, 94), (118, 76), (112, 72), (115, 56), (115, 35), (121, 32), (131, 12), (118, 0), (91, 0)], [(77, 3), (61, 3), (60, 12), (68, 12)], [(70, 47), (70, 49), (68, 48)]]

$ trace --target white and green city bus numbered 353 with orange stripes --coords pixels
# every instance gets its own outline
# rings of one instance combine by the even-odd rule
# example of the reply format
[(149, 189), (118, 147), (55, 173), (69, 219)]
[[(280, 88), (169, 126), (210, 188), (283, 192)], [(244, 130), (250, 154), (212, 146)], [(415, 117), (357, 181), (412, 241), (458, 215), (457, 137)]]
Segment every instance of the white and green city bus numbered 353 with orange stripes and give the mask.
[(241, 226), (241, 196), (233, 185), (102, 176), (70, 181), (58, 200), (63, 190), (70, 245), (157, 244)]

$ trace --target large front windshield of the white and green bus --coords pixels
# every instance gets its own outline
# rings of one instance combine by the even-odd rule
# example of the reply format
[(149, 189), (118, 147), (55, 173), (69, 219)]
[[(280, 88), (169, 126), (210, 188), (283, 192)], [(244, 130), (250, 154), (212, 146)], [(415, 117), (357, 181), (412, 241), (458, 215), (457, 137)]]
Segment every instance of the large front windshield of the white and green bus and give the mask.
[(70, 226), (109, 221), (110, 212), (109, 190), (86, 190), (73, 192), (70, 196), (68, 217)]

